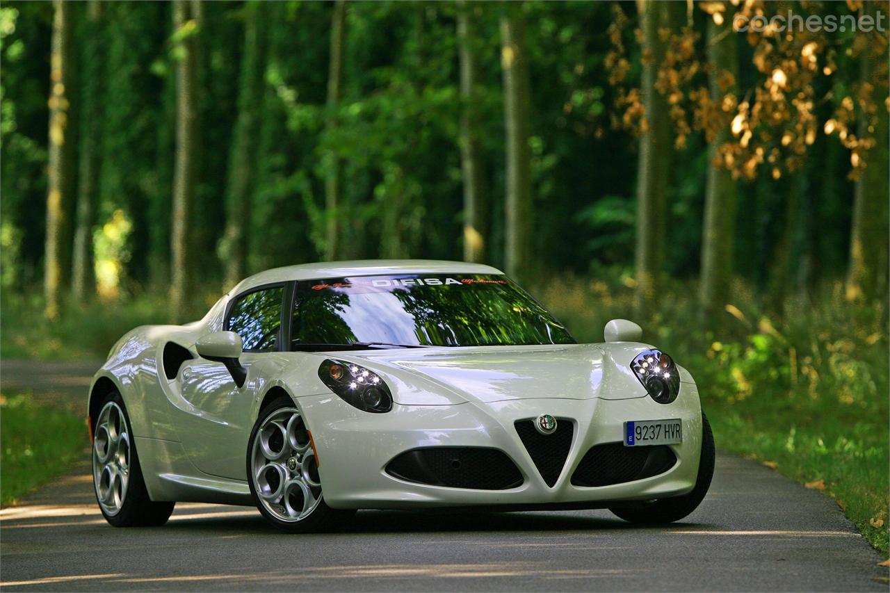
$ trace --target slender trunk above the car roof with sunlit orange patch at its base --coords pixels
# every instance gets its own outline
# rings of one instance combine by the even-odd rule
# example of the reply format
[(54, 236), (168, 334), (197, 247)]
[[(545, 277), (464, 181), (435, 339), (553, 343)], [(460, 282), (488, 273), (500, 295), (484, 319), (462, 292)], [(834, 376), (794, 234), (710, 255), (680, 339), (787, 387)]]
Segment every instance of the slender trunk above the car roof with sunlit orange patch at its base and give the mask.
[(465, 0), (457, 3), (457, 47), (460, 59), (460, 167), (464, 174), (464, 259), (483, 262), (488, 237), (488, 188), (482, 147), (479, 141), (479, 64), (475, 46), (478, 37), (471, 8)]

